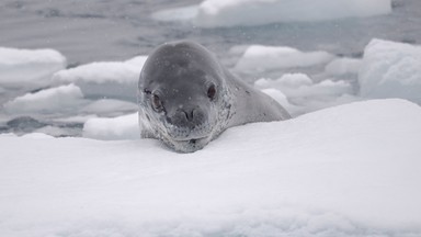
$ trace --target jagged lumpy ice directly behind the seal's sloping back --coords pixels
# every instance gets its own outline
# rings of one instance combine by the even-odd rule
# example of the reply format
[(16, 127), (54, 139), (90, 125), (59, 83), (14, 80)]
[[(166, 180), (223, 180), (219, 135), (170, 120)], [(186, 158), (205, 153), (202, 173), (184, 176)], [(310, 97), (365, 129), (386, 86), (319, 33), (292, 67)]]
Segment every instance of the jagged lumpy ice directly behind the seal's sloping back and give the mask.
[(284, 105), (293, 116), (357, 100), (349, 82), (327, 79), (316, 83), (305, 74), (285, 74), (275, 80), (262, 78), (254, 86)]

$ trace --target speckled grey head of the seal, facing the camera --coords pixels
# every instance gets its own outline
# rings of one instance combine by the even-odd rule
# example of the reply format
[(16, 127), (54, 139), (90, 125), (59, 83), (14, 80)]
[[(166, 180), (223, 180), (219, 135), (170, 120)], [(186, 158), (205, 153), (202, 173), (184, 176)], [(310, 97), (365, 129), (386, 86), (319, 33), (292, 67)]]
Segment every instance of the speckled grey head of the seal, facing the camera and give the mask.
[(141, 137), (161, 139), (183, 153), (208, 144), (221, 132), (229, 113), (221, 72), (200, 45), (159, 47), (148, 57), (139, 79)]

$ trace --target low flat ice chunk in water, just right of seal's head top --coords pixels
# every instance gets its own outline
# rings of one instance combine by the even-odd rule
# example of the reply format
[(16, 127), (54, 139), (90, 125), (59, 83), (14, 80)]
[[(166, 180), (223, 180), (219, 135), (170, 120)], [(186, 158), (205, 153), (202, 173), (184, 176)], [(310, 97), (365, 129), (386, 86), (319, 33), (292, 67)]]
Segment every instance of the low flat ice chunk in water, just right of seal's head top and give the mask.
[(235, 66), (237, 71), (257, 71), (310, 67), (326, 64), (333, 59), (333, 55), (327, 52), (300, 52), (292, 47), (282, 46), (249, 46)]

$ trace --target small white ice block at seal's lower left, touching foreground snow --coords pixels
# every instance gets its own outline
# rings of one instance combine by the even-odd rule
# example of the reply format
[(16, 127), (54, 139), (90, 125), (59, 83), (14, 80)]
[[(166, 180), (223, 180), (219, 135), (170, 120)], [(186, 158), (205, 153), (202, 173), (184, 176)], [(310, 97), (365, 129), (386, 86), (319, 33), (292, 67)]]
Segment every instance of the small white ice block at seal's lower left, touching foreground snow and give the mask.
[(140, 138), (138, 114), (117, 117), (93, 117), (83, 125), (83, 137), (115, 140)]

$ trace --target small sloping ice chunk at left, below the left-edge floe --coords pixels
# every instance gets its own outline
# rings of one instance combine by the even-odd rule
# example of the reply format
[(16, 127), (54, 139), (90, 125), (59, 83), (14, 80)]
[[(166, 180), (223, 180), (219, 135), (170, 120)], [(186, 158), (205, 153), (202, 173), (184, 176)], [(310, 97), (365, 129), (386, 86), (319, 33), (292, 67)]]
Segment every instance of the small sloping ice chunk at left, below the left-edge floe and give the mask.
[(72, 112), (84, 104), (83, 93), (75, 84), (61, 86), (26, 93), (4, 103), (4, 110), (12, 114)]

